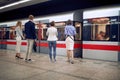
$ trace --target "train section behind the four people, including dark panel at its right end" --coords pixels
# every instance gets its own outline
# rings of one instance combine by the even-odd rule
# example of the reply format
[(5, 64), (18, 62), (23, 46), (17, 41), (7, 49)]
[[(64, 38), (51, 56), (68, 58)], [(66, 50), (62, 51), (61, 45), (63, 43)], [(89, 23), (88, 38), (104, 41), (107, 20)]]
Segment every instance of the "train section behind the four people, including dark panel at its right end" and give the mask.
[[(75, 57), (82, 57), (82, 41), (81, 41), (81, 33), (82, 33), (82, 11), (81, 10), (76, 10), (76, 11), (71, 11), (71, 12), (65, 12), (65, 13), (59, 13), (59, 14), (54, 14), (54, 15), (49, 15), (49, 16), (40, 16), (36, 17), (34, 19), (36, 23), (36, 52), (37, 53), (46, 53), (48, 54), (48, 42), (47, 42), (47, 36), (46, 36), (46, 31), (47, 28), (49, 27), (49, 23), (51, 21), (55, 21), (55, 26), (58, 29), (58, 41), (57, 41), (57, 55), (62, 55), (66, 56), (66, 46), (65, 46), (65, 35), (64, 35), (64, 27), (65, 23), (68, 19), (71, 19), (73, 21), (73, 25), (75, 26), (77, 30), (77, 35), (75, 36)], [(27, 22), (27, 19), (21, 19), (23, 26), (25, 22)], [(11, 22), (4, 22), (0, 23), (0, 25), (7, 25), (9, 28), (9, 39), (6, 39), (2, 42), (0, 42), (0, 45), (7, 45), (6, 49), (9, 50), (15, 50), (16, 46), (16, 40), (15, 37), (12, 34), (12, 30), (14, 32), (14, 26), (16, 25), (16, 21), (11, 21)], [(38, 34), (39, 32), (39, 24), (41, 24), (41, 34)], [(11, 28), (12, 27), (12, 28)], [(15, 32), (14, 32), (15, 33)], [(39, 38), (38, 36), (41, 35), (42, 37)], [(26, 40), (22, 40), (22, 46), (21, 46), (21, 51), (26, 51), (26, 45), (27, 42)]]

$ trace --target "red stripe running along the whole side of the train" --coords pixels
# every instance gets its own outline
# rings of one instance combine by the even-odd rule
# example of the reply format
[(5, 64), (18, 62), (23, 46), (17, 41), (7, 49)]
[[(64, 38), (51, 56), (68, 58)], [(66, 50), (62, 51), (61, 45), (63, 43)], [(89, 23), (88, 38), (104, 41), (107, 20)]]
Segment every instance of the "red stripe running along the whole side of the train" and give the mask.
[[(16, 45), (16, 42), (10, 42), (10, 41), (2, 41), (0, 44), (7, 44), (7, 45)], [(22, 45), (26, 46), (26, 42), (22, 42)], [(48, 47), (48, 43), (42, 42), (37, 43), (37, 46), (41, 47)], [(57, 44), (58, 48), (66, 48), (65, 44)], [(99, 44), (78, 44), (75, 43), (74, 48), (83, 48), (83, 49), (91, 49), (91, 50), (110, 50), (110, 51), (120, 51), (120, 46), (117, 45), (99, 45)]]

